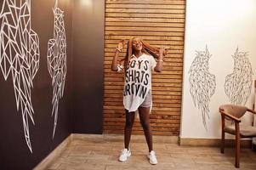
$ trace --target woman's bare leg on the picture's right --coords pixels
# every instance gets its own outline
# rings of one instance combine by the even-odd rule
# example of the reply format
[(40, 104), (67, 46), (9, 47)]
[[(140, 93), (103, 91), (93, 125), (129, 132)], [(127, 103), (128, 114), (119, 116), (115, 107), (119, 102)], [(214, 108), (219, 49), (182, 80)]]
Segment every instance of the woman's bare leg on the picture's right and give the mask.
[(150, 124), (150, 107), (139, 107), (139, 119), (143, 127), (146, 143), (149, 147), (149, 152), (153, 150), (151, 124)]

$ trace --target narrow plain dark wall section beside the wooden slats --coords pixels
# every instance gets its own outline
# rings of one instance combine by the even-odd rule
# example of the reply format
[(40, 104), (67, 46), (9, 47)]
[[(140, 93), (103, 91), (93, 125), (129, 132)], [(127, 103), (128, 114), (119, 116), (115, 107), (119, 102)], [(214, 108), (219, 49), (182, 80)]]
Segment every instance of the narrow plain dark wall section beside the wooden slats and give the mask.
[(105, 1), (74, 1), (74, 133), (102, 133)]

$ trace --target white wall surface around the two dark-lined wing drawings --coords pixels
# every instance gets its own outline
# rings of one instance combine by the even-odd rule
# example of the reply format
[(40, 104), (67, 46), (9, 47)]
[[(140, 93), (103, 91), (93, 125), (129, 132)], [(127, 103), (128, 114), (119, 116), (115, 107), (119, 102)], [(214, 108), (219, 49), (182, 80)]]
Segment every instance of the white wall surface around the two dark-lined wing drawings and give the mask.
[[(189, 70), (197, 51), (208, 51), (209, 71), (216, 77), (216, 89), (210, 101), (208, 130), (191, 97)], [(185, 22), (184, 82), (181, 117), (181, 138), (219, 139), (219, 105), (230, 103), (225, 95), (225, 77), (233, 71), (231, 55), (248, 52), (256, 79), (256, 1), (255, 0), (187, 0)], [(253, 86), (247, 106), (252, 107)], [(246, 122), (249, 122), (247, 117)]]

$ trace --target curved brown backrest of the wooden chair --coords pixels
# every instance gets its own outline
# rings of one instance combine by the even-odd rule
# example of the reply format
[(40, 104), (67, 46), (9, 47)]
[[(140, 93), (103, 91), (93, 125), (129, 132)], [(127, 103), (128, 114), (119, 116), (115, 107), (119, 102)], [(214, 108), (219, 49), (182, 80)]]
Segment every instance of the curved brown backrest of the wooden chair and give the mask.
[(243, 105), (220, 105), (219, 109), (229, 113), (232, 116), (236, 116), (237, 118), (242, 117), (247, 111), (247, 107)]

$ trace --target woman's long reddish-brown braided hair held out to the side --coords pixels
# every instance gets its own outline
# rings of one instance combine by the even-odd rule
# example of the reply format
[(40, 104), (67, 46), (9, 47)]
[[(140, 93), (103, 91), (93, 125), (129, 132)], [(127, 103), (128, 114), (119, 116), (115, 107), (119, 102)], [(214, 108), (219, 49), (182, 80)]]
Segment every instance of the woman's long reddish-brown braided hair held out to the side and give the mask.
[[(128, 68), (128, 63), (134, 54), (134, 49), (133, 49), (133, 40), (135, 37), (131, 37), (128, 41), (128, 47), (127, 47), (127, 52), (125, 55), (124, 60), (124, 67), (125, 70)], [(145, 54), (151, 54), (154, 58), (158, 59), (159, 55), (159, 50), (160, 48), (152, 47), (148, 42), (145, 42), (144, 40), (140, 39), (142, 42), (142, 52)], [(165, 56), (167, 54), (167, 50), (164, 51), (163, 55)]]

